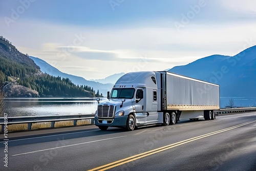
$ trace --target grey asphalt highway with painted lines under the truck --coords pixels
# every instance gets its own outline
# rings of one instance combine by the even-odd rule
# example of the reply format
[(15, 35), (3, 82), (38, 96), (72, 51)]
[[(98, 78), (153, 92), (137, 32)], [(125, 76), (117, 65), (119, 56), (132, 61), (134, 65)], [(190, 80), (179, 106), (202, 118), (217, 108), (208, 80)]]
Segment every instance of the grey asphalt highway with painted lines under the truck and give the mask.
[(132, 132), (95, 125), (16, 132), (8, 144), (0, 136), (0, 170), (256, 170), (255, 112)]

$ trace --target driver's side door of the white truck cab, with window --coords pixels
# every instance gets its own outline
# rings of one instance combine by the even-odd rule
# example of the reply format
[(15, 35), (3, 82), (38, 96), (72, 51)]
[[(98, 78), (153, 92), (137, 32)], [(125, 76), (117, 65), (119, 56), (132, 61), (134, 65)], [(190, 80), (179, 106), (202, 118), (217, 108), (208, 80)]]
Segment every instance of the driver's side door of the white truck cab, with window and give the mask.
[(135, 106), (136, 111), (136, 125), (143, 125), (146, 123), (146, 117), (148, 113), (145, 112), (145, 100), (144, 100), (145, 91), (142, 88), (138, 88), (135, 93), (135, 100), (133, 105)]

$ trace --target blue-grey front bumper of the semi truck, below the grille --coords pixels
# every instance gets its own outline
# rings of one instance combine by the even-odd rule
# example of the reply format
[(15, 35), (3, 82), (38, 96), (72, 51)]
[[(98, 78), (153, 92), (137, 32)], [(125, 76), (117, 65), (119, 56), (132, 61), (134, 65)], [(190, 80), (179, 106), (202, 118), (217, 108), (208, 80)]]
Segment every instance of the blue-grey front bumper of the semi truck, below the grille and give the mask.
[(119, 116), (116, 118), (98, 118), (95, 116), (96, 126), (113, 126), (113, 127), (126, 127), (126, 121), (128, 116)]

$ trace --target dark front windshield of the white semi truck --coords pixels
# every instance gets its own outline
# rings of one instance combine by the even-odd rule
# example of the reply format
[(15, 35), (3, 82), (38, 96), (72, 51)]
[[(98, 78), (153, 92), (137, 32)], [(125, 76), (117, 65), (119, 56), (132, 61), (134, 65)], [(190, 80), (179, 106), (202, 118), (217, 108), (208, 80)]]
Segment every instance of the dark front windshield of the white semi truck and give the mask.
[(113, 99), (120, 99), (120, 98), (125, 98), (125, 99), (132, 99), (134, 96), (134, 89), (112, 89), (110, 98)]

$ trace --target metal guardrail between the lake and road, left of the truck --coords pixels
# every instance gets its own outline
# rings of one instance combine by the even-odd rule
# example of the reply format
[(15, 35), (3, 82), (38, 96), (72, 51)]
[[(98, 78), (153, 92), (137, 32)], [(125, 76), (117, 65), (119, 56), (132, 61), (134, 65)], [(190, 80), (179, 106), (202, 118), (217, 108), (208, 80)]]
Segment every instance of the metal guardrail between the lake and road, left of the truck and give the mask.
[[(77, 115), (50, 115), (50, 116), (16, 116), (16, 117), (0, 117), (1, 132), (4, 132), (4, 126), (11, 124), (28, 123), (28, 130), (32, 129), (32, 123), (51, 122), (51, 127), (54, 127), (57, 121), (73, 120), (74, 126), (77, 125), (77, 120), (91, 119), (91, 124), (94, 124), (95, 114), (77, 114)], [(5, 121), (7, 118), (7, 121)]]

